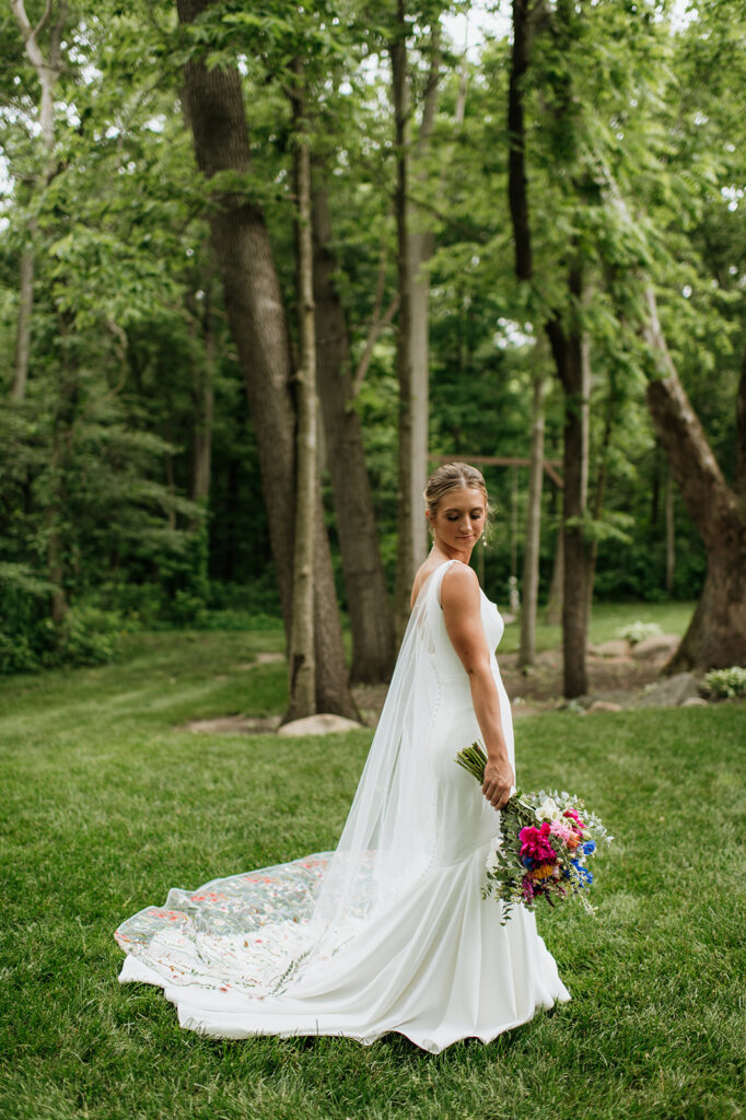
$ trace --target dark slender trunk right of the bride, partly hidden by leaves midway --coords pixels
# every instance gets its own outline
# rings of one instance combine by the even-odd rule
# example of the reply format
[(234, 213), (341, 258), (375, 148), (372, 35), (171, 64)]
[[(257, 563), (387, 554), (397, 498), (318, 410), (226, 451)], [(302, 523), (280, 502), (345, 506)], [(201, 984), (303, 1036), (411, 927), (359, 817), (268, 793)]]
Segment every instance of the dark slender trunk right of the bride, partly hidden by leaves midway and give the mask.
[[(507, 193), (515, 248), (515, 274), (520, 281), (533, 277), (531, 224), (525, 174), (525, 125), (523, 81), (529, 68), (529, 0), (513, 0), (513, 49), (507, 93), (509, 152)], [(587, 492), (588, 454), (588, 361), (577, 308), (582, 299), (582, 276), (579, 265), (568, 272), (568, 296), (571, 315), (569, 332), (560, 316), (544, 323), (558, 377), (565, 391), (563, 449), (563, 568), (562, 653), (565, 694), (581, 696), (587, 691), (586, 635), (586, 550), (582, 532)]]

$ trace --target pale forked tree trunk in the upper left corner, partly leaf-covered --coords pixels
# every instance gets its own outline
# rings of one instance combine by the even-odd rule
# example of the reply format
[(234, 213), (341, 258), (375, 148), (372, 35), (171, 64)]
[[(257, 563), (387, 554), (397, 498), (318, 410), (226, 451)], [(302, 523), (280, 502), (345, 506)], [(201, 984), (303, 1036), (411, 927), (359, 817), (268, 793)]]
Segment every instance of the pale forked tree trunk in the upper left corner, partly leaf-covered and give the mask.
[[(49, 185), (54, 177), (54, 91), (57, 78), (62, 73), (62, 37), (67, 20), (67, 2), (60, 0), (57, 8), (57, 17), (49, 35), (48, 56), (45, 58), (39, 46), (39, 36), (45, 29), (53, 15), (53, 0), (46, 4), (44, 13), (32, 27), (26, 13), (24, 0), (10, 0), (10, 7), (16, 22), (24, 37), (26, 54), (36, 72), (36, 76), (41, 87), (39, 101), (39, 127), (41, 130), (41, 144), (44, 155), (40, 171), (35, 172), (31, 183), (31, 194), (41, 187)], [(36, 239), (37, 223), (30, 218), (28, 223), (28, 241), (24, 246), (20, 260), (19, 278), (19, 300), (18, 320), (16, 328), (16, 362), (13, 371), (13, 382), (10, 389), (12, 401), (22, 401), (26, 395), (26, 382), (28, 380), (29, 360), (31, 353), (31, 317), (34, 314), (34, 272), (36, 267)]]

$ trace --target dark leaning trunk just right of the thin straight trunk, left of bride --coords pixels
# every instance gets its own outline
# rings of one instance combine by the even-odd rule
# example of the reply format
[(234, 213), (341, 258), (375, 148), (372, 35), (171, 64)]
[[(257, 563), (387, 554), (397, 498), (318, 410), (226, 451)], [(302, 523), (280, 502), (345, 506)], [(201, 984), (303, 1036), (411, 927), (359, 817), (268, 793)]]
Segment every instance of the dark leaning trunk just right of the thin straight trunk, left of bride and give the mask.
[(349, 340), (335, 286), (337, 262), (320, 174), (314, 179), (313, 211), (316, 371), (353, 638), (351, 675), (353, 681), (373, 684), (388, 680), (391, 673), (395, 652), (393, 617), (360, 417), (353, 407)]

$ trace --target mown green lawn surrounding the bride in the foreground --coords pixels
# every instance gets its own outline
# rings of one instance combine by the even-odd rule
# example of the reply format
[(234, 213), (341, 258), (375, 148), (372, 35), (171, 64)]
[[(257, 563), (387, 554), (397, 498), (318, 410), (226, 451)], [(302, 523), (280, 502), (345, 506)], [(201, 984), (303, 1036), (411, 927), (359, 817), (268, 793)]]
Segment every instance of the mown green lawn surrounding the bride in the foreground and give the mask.
[(433, 1057), (397, 1035), (222, 1042), (119, 986), (112, 931), (170, 886), (334, 844), (370, 732), (176, 730), (280, 711), (281, 634), (132, 638), (118, 665), (0, 683), (0, 1114), (9, 1120), (725, 1120), (744, 1114), (746, 709), (519, 725), (519, 777), (617, 840), (598, 921), (541, 914), (572, 1001)]

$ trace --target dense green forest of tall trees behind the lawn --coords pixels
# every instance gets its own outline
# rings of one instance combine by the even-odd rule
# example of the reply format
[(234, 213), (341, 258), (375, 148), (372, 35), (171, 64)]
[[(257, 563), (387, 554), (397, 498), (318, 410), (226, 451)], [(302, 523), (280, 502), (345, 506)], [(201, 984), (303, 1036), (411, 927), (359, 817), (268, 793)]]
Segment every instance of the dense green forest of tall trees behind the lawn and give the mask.
[(281, 616), (349, 713), (335, 604), (385, 678), (446, 457), (509, 460), (479, 564), (503, 605), (554, 575), (567, 694), (591, 595), (701, 595), (684, 661), (746, 663), (742, 3), (12, 0), (0, 34), (0, 672)]

